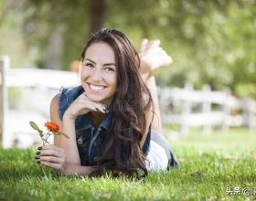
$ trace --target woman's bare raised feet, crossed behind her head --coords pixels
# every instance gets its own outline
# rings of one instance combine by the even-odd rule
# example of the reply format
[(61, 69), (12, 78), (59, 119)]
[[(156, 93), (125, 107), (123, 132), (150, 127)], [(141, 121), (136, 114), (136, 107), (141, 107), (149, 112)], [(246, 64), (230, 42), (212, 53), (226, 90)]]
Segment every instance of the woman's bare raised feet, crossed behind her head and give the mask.
[(159, 67), (172, 63), (173, 59), (160, 47), (160, 40), (144, 39), (141, 45), (140, 58), (142, 61), (141, 71), (151, 72)]

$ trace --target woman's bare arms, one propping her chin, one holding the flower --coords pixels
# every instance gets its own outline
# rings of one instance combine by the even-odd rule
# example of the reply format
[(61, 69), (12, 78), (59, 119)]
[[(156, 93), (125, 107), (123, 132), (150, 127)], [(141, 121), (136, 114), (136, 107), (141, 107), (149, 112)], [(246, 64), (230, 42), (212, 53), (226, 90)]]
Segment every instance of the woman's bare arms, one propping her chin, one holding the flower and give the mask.
[(63, 175), (91, 175), (95, 167), (80, 165), (80, 154), (76, 143), (75, 119), (78, 115), (95, 110), (97, 107), (103, 111), (99, 103), (88, 100), (85, 94), (81, 94), (77, 100), (65, 111), (63, 121), (59, 119), (59, 98), (55, 96), (50, 104), (50, 119), (57, 122), (61, 132), (69, 135), (69, 139), (63, 136), (55, 136), (54, 144), (41, 147), (38, 162), (44, 166), (53, 168)]

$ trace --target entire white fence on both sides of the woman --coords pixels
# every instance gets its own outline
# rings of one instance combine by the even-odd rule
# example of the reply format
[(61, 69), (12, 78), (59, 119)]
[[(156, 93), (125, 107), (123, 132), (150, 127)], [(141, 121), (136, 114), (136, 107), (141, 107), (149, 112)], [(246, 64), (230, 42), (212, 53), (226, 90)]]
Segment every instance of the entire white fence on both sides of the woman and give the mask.
[[(33, 120), (43, 123), (48, 119), (49, 102), (63, 85), (79, 85), (77, 73), (47, 69), (10, 69), (10, 59), (0, 58), (0, 143), (4, 147), (10, 147), (14, 145), (14, 140), (20, 139), (27, 144), (25, 147), (32, 145), (27, 134), (37, 134), (32, 131), (28, 122)], [(32, 93), (28, 91), (24, 96), (25, 100), (18, 100), (29, 106), (27, 110), (9, 110), (7, 89), (10, 87), (32, 89)], [(37, 89), (37, 97), (34, 89)], [(219, 126), (223, 130), (230, 126), (256, 128), (255, 100), (238, 100), (229, 90), (211, 91), (208, 85), (202, 90), (193, 90), (187, 84), (184, 89), (159, 88), (158, 95), (162, 122), (179, 124), (181, 132), (189, 132), (191, 126), (202, 126), (204, 132), (210, 132), (212, 126)], [(38, 107), (40, 110), (35, 110)]]

